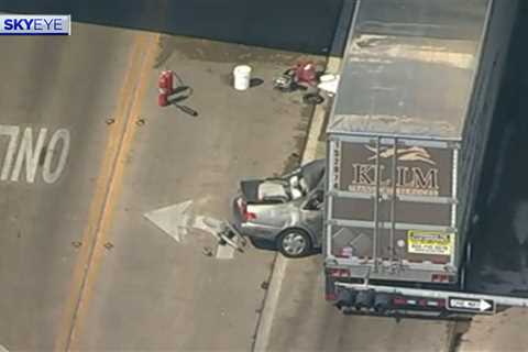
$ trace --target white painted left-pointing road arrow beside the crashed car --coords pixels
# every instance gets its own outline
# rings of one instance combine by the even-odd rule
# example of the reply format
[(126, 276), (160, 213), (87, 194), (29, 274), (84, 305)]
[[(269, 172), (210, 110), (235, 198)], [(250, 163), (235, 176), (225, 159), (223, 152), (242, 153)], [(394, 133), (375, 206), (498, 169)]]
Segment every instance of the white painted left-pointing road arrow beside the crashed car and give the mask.
[[(222, 228), (222, 221), (210, 217), (195, 216), (193, 204), (193, 200), (186, 200), (173, 206), (152, 210), (146, 212), (144, 217), (177, 242), (183, 242), (190, 229), (209, 232), (218, 239), (217, 233)], [(232, 258), (233, 255), (234, 249), (231, 246), (218, 245), (217, 258)], [(0, 350), (0, 352), (2, 351)]]

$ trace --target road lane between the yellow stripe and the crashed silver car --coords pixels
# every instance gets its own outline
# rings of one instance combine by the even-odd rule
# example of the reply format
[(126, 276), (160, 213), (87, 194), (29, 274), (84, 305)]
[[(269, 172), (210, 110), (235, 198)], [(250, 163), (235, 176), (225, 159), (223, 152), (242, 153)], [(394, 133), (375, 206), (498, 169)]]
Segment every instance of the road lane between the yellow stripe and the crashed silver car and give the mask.
[[(299, 153), (310, 110), (300, 96), (274, 91), (271, 80), (300, 56), (183, 37), (160, 44), (142, 72), (144, 90), (139, 87), (120, 152), (123, 169), (114, 176), (120, 191), (111, 195), (113, 211), (101, 224), (70, 346), (244, 351), (274, 253), (206, 256), (204, 248), (215, 250), (216, 240), (196, 218), (229, 218), (241, 176), (282, 173), (288, 156)], [(238, 62), (250, 63), (264, 82), (232, 89)], [(183, 103), (198, 117), (157, 107), (158, 69), (152, 66), (174, 68), (191, 86)], [(152, 211), (189, 200), (195, 228), (164, 233), (182, 213), (167, 219)]]

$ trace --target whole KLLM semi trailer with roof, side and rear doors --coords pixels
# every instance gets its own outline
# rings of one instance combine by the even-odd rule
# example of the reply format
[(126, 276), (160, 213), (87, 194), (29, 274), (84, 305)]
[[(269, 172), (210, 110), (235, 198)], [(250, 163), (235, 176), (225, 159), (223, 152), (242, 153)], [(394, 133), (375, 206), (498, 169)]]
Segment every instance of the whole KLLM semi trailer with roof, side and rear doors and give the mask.
[(340, 309), (527, 305), (465, 285), (516, 11), (501, 0), (356, 2), (326, 131), (326, 297)]

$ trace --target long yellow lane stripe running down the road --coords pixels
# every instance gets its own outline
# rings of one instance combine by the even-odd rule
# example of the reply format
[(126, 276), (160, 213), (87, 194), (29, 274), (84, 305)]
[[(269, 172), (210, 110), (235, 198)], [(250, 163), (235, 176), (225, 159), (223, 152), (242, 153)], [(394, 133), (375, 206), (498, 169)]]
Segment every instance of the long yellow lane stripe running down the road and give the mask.
[(154, 66), (158, 34), (141, 33), (134, 40), (119, 102), (116, 123), (105, 148), (95, 195), (91, 200), (87, 227), (82, 233), (82, 248), (73, 272), (68, 296), (63, 308), (55, 351), (68, 351), (80, 331), (80, 323), (90, 301), (96, 275), (101, 262), (102, 244), (111, 224), (112, 212), (119, 198), (124, 174), (124, 158), (134, 140), (135, 118), (146, 90), (150, 69)]

